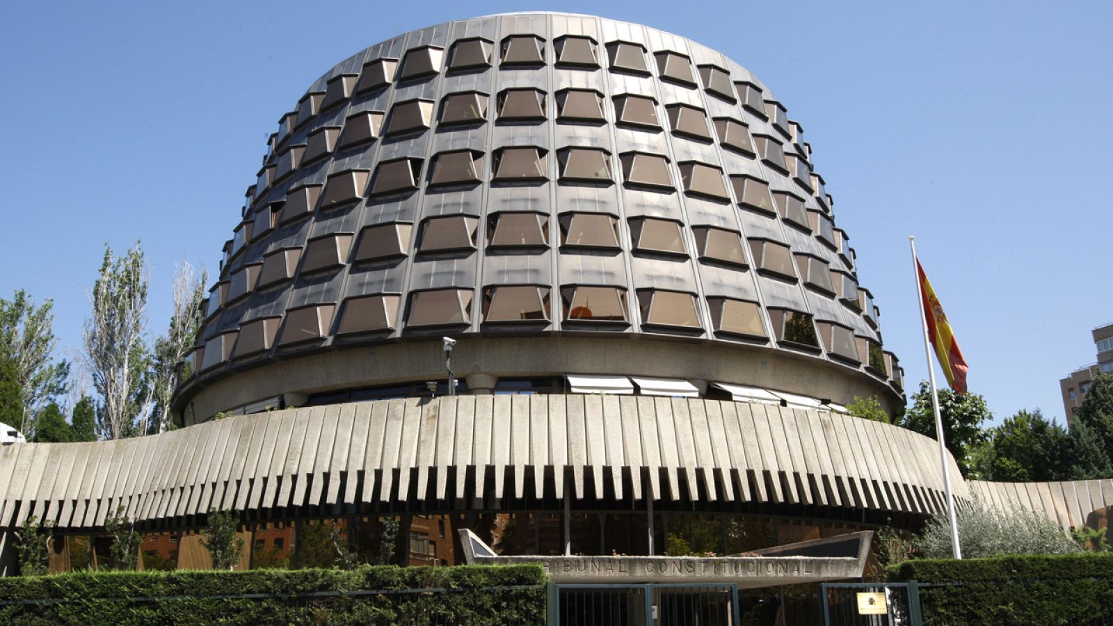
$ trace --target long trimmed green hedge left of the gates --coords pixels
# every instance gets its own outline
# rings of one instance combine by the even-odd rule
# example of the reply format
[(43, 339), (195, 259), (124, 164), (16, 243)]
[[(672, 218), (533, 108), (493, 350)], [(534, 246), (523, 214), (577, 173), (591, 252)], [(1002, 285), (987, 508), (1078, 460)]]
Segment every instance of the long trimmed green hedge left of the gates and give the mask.
[(540, 565), (78, 571), (0, 578), (0, 624), (543, 624), (545, 580)]

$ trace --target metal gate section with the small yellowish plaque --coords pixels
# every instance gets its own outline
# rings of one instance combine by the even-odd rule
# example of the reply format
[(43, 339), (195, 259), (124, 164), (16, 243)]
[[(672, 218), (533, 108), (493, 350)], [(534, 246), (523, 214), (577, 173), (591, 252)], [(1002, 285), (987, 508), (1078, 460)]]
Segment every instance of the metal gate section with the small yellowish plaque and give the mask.
[(922, 626), (919, 585), (820, 583), (825, 626)]

